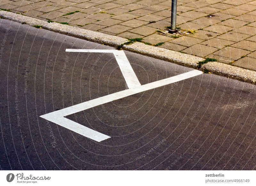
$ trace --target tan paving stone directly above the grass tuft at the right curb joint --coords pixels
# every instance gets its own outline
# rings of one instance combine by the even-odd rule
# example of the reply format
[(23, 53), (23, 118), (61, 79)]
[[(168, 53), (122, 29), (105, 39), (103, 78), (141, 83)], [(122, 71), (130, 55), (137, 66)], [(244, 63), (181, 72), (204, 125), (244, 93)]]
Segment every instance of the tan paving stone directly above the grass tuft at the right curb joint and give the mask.
[(212, 52), (214, 52), (216, 50), (218, 50), (218, 49), (210, 47), (210, 46), (202, 45), (202, 44), (195, 44), (195, 45), (188, 47), (187, 49), (182, 50), (182, 51), (187, 54), (196, 55), (198, 57), (204, 58), (205, 56), (211, 54)]

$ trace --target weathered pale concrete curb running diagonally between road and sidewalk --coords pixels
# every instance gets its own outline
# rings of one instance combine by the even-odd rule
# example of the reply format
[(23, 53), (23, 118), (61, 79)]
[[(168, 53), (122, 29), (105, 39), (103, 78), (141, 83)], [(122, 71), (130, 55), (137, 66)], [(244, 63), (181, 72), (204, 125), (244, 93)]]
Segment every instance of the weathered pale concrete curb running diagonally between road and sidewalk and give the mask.
[[(0, 16), (4, 19), (13, 20), (19, 23), (26, 23), (30, 26), (41, 25), (42, 28), (47, 30), (51, 30), (51, 31), (65, 34), (65, 35), (74, 36), (80, 39), (84, 39), (84, 40), (88, 40), (96, 43), (106, 44), (113, 47), (123, 45), (124, 43), (129, 41), (122, 37), (108, 35), (108, 34), (91, 31), (83, 28), (73, 27), (69, 25), (63, 25), (56, 22), (48, 23), (40, 19), (31, 18), (31, 17), (13, 13), (13, 12), (0, 11)], [(138, 43), (138, 42), (133, 43), (131, 45), (123, 45), (122, 48), (124, 50), (136, 52), (139, 54), (162, 59), (165, 61), (170, 61), (172, 63), (176, 63), (182, 66), (187, 66), (192, 68), (198, 68), (197, 63), (199, 61), (204, 60), (204, 58), (183, 54), (180, 52), (167, 50), (164, 48), (154, 47), (154, 46), (150, 46), (150, 45), (146, 45), (144, 43)], [(231, 65), (227, 65), (219, 62), (209, 62), (207, 64), (204, 64), (200, 68), (200, 70), (208, 70), (213, 74), (218, 74), (218, 75), (236, 79), (239, 81), (256, 84), (255, 71), (246, 70), (236, 66), (231, 66)]]

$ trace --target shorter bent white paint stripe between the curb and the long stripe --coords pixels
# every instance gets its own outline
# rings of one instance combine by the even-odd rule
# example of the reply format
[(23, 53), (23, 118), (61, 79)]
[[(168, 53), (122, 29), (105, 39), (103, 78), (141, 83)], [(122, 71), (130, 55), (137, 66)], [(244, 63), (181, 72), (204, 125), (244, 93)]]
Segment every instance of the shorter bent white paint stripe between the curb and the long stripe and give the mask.
[(99, 52), (99, 53), (113, 53), (116, 62), (124, 76), (124, 80), (129, 89), (140, 86), (136, 74), (134, 73), (130, 62), (128, 61), (124, 50), (89, 50), (89, 49), (66, 49), (66, 52)]

